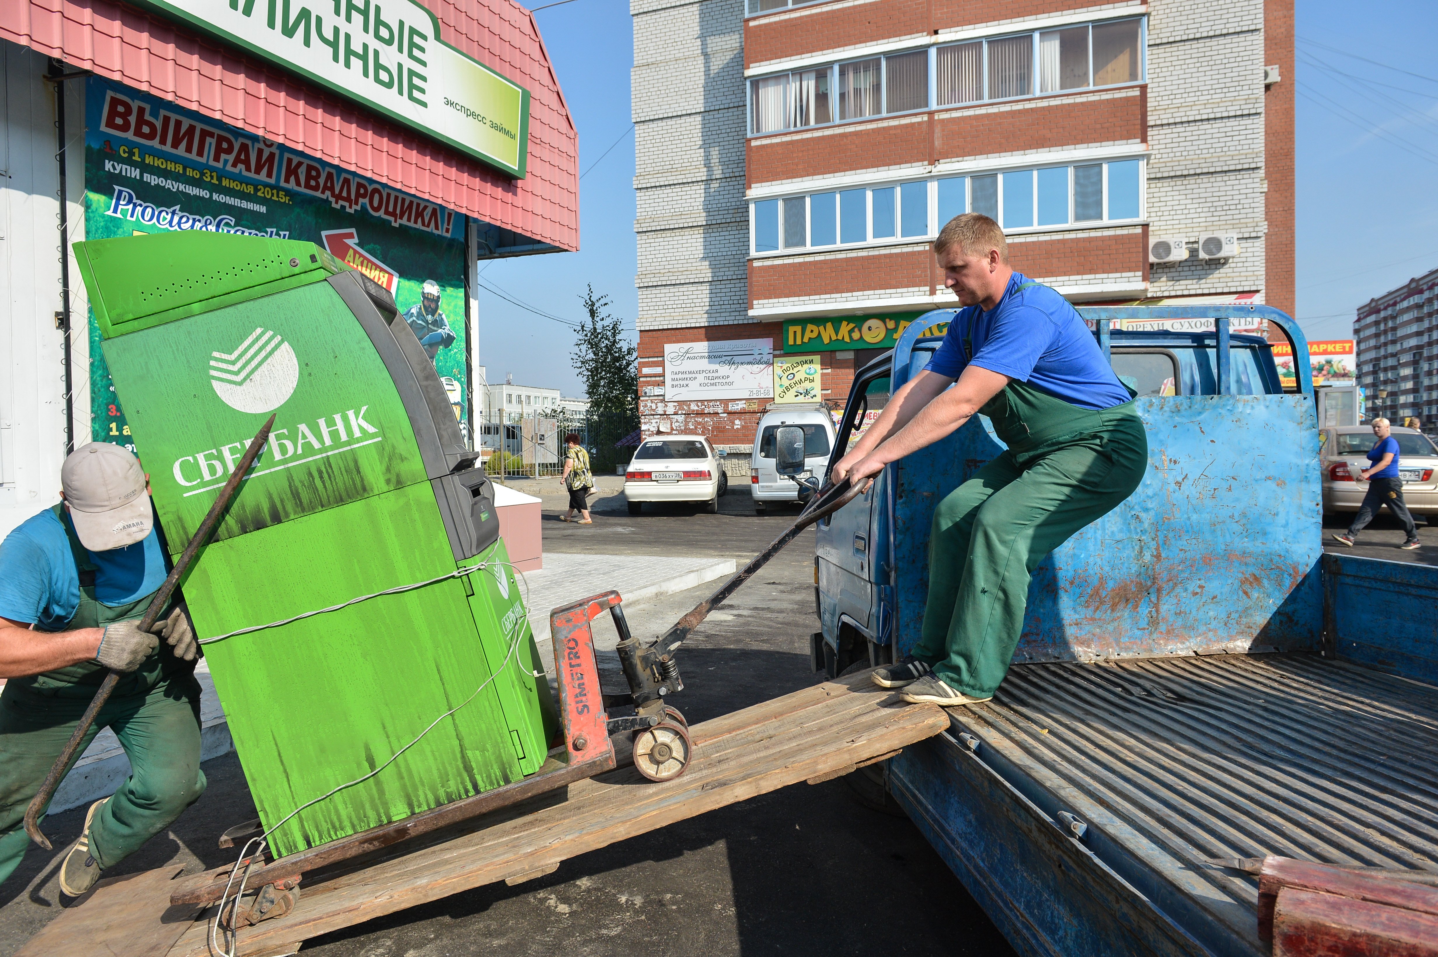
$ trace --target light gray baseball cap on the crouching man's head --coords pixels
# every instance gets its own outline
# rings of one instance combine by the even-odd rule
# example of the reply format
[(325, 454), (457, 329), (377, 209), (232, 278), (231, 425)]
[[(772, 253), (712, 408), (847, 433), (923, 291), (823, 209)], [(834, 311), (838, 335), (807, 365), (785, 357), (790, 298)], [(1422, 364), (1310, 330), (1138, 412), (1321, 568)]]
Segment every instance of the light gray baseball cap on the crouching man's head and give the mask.
[(91, 443), (65, 457), (60, 487), (81, 545), (109, 552), (142, 542), (154, 526), (145, 470), (112, 443)]

